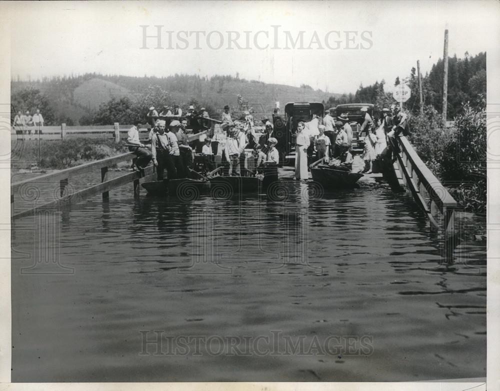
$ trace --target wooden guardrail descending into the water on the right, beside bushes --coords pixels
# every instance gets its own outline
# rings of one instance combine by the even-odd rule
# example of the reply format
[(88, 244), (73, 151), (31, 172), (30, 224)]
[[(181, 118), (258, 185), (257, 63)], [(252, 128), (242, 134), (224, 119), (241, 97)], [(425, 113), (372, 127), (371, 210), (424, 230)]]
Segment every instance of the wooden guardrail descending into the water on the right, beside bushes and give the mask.
[[(406, 137), (399, 137), (399, 145), (401, 153), (396, 164), (402, 174), (403, 183), (429, 218), (431, 228), (446, 232), (454, 223), (455, 210), (461, 207), (423, 163)], [(436, 209), (441, 214), (440, 224), (432, 216)]]

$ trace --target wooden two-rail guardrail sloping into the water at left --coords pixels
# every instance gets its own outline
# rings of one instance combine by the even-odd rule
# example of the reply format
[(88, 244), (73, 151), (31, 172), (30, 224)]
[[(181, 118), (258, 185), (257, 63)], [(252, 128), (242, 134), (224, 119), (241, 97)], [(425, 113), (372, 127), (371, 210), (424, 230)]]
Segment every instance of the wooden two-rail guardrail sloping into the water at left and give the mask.
[[(97, 160), (95, 162), (82, 164), (76, 167), (66, 168), (64, 170), (60, 170), (54, 173), (40, 175), (34, 178), (14, 182), (10, 185), (11, 218), (15, 219), (32, 214), (36, 209), (40, 208), (56, 207), (61, 204), (65, 205), (65, 204), (75, 203), (81, 201), (86, 197), (92, 197), (97, 194), (102, 194), (102, 200), (107, 201), (109, 199), (109, 190), (119, 186), (123, 186), (124, 184), (130, 182), (133, 183), (134, 196), (137, 197), (139, 195), (139, 179), (142, 177), (152, 175), (154, 172), (153, 166), (146, 167), (144, 170), (142, 170), (142, 172), (139, 171), (129, 172), (117, 178), (108, 179), (109, 166), (119, 162), (130, 161), (130, 160), (132, 161), (135, 160), (135, 155), (132, 152), (124, 153), (106, 159)], [(101, 183), (76, 191), (74, 193), (64, 194), (65, 189), (67, 188), (69, 180), (71, 178), (77, 175), (92, 172), (93, 170), (96, 169), (100, 170)], [(36, 182), (43, 182), (43, 183), (53, 182), (54, 184), (56, 184), (57, 181), (59, 181), (60, 198), (44, 203), (42, 205), (38, 205), (36, 207), (31, 207), (29, 209), (20, 212), (16, 213), (13, 212), (15, 195), (18, 195), (19, 192), (23, 191), (23, 189), (27, 189), (30, 185), (34, 185)], [(68, 192), (66, 191), (66, 193)]]

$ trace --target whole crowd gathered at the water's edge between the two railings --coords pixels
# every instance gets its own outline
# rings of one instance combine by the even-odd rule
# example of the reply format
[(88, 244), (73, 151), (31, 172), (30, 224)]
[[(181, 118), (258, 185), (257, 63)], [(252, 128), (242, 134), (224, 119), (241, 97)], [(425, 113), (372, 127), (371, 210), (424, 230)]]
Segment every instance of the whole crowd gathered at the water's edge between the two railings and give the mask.
[[(243, 168), (255, 171), (263, 165), (282, 163), (285, 149), (284, 145), (279, 145), (280, 138), (274, 134), (273, 124), (279, 116), (279, 109), (274, 110), (272, 122), (264, 117), (260, 119), (263, 134), (256, 132), (253, 116), (248, 111), (233, 119), (229, 110), (226, 105), (220, 120), (214, 120), (204, 108), (196, 111), (189, 106), (184, 114), (178, 106), (164, 106), (158, 114), (151, 106), (147, 113), (151, 121), (149, 147), (139, 140), (139, 124), (128, 132), (129, 150), (137, 155), (133, 168), (142, 169), (152, 161), (157, 167), (158, 180), (163, 179), (165, 170), (168, 178), (184, 178), (193, 168), (195, 152), (201, 158), (205, 172), (218, 164), (225, 167), (226, 175), (244, 176), (247, 170)], [(365, 113), (359, 129), (359, 139), (364, 141), (361, 158), (365, 167), (362, 172), (371, 173), (373, 163), (382, 156), (389, 154), (392, 161), (397, 158), (397, 137), (407, 127), (407, 116), (395, 106), (390, 110), (384, 108), (380, 120), (371, 118), (366, 107), (361, 111)], [(210, 121), (219, 124), (213, 133)], [(190, 138), (189, 133), (198, 137)], [(325, 111), (324, 117), (313, 114), (309, 122), (298, 122), (295, 136), (294, 179), (308, 178), (308, 165), (314, 153), (316, 160), (323, 159), (330, 166), (351, 170), (353, 131), (347, 113), (336, 118), (330, 110)]]

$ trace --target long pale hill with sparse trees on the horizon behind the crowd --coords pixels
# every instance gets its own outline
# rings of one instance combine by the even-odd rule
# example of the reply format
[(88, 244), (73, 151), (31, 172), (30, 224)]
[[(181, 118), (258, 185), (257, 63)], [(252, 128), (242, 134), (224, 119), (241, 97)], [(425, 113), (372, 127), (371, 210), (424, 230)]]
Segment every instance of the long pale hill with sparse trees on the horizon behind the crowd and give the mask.
[(129, 77), (86, 74), (77, 77), (44, 79), (41, 81), (11, 82), (11, 93), (23, 88), (36, 88), (50, 101), (56, 118), (68, 117), (77, 125), (83, 115), (91, 115), (99, 105), (111, 98), (134, 98), (149, 86), (167, 91), (181, 107), (190, 101), (210, 105), (216, 109), (228, 104), (237, 105), (237, 96), (248, 101), (255, 115), (270, 114), (276, 101), (327, 101), (340, 94), (313, 90), (309, 86), (292, 87), (239, 79), (237, 76), (174, 75), (165, 78)]

